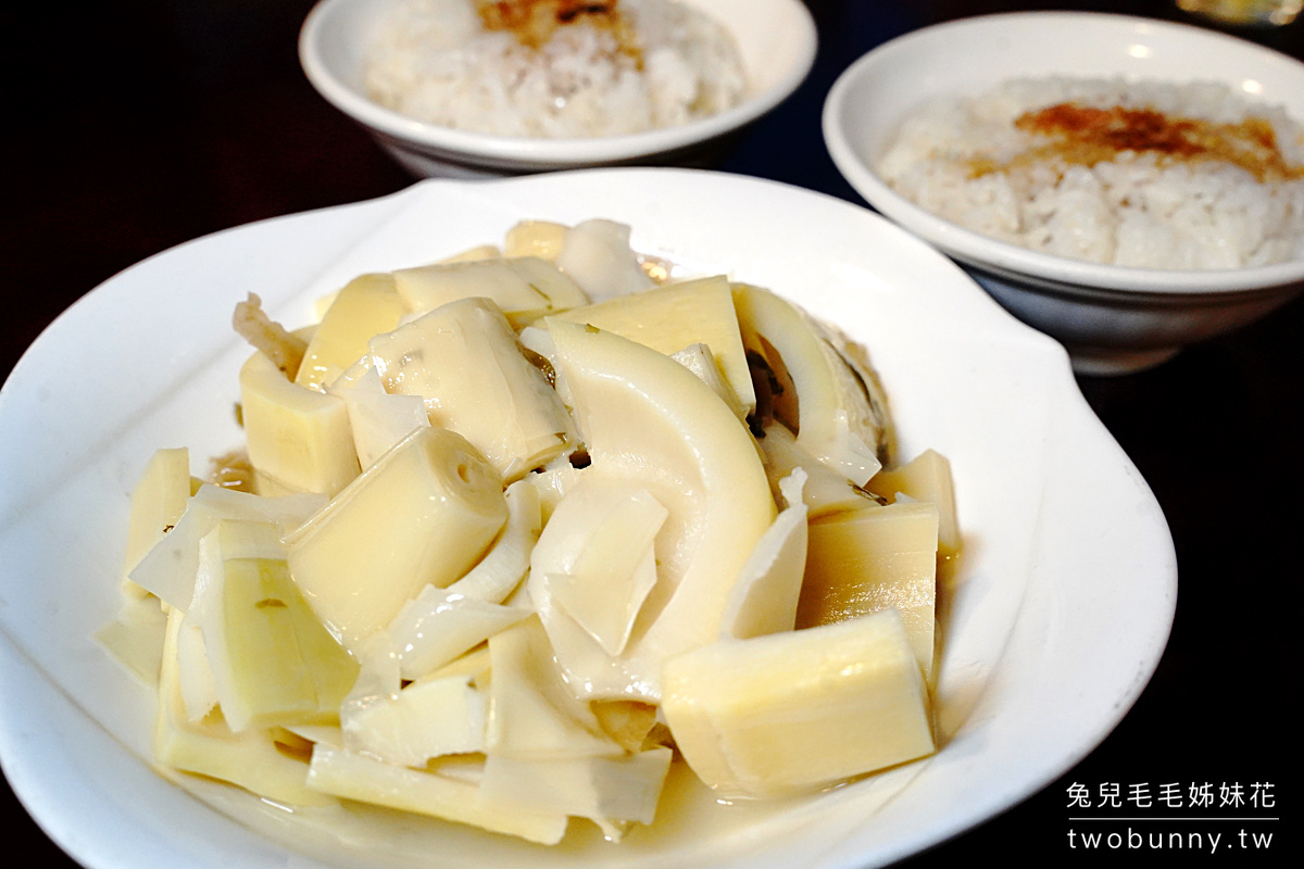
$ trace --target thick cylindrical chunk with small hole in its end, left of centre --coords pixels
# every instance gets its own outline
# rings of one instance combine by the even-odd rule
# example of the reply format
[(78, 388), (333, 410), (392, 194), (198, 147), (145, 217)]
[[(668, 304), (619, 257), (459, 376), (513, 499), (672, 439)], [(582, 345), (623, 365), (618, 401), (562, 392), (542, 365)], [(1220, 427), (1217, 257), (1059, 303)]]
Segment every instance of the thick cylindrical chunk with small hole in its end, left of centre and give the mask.
[(357, 651), (422, 586), (466, 573), (506, 521), (502, 481), (466, 438), (419, 429), (287, 537), (289, 568)]

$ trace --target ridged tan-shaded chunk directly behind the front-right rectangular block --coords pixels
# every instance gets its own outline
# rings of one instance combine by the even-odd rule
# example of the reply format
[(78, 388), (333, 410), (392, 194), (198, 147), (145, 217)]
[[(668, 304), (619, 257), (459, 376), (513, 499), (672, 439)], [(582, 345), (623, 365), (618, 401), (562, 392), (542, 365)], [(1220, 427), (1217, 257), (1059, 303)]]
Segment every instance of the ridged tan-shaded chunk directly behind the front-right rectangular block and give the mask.
[(889, 607), (901, 612), (925, 675), (932, 676), (938, 508), (926, 502), (836, 513), (810, 524), (797, 627)]

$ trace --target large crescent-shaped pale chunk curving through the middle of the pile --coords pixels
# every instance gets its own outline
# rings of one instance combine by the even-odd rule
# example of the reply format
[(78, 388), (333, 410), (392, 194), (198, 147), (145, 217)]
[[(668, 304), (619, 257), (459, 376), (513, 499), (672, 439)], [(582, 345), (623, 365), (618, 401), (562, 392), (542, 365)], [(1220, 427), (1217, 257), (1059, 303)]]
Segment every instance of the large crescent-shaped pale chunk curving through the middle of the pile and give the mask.
[(655, 702), (662, 662), (720, 636), (729, 589), (775, 499), (751, 434), (696, 375), (612, 332), (548, 323), (592, 459), (582, 473), (647, 489), (668, 515), (653, 546), (657, 584), (619, 655), (550, 598), (533, 563), (529, 594), (575, 691)]

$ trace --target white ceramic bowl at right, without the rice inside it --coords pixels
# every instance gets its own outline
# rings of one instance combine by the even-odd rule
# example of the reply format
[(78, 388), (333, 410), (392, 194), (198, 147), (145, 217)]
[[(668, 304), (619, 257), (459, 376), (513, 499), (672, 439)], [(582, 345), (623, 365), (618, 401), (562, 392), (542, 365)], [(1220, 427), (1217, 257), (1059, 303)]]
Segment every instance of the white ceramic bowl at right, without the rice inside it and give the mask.
[(875, 48), (829, 91), (824, 138), (837, 168), (874, 208), (955, 258), (1001, 305), (1065, 344), (1081, 373), (1155, 365), (1300, 292), (1304, 261), (1167, 271), (1037, 253), (943, 220), (875, 173), (889, 137), (921, 103), (1048, 74), (1218, 81), (1304, 120), (1304, 64), (1284, 55), (1188, 25), (1046, 12), (958, 20)]

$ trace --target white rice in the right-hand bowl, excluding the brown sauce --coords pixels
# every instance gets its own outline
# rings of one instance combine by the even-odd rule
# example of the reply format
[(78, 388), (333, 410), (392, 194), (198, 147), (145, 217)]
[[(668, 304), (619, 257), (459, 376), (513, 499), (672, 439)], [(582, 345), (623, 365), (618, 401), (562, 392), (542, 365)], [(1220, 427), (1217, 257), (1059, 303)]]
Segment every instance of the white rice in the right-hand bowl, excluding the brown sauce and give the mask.
[[(1037, 145), (1015, 120), (1069, 102), (1219, 124), (1261, 117), (1273, 124), (1287, 164), (1304, 165), (1304, 132), (1281, 108), (1251, 104), (1223, 85), (1025, 78), (979, 98), (923, 107), (905, 121), (878, 172), (947, 220), (1063, 257), (1188, 270), (1304, 258), (1297, 172), (1261, 182), (1234, 163), (1149, 151), (1119, 151), (1094, 165), (1054, 159), (1011, 165)], [(1001, 168), (974, 172), (975, 162)]]

